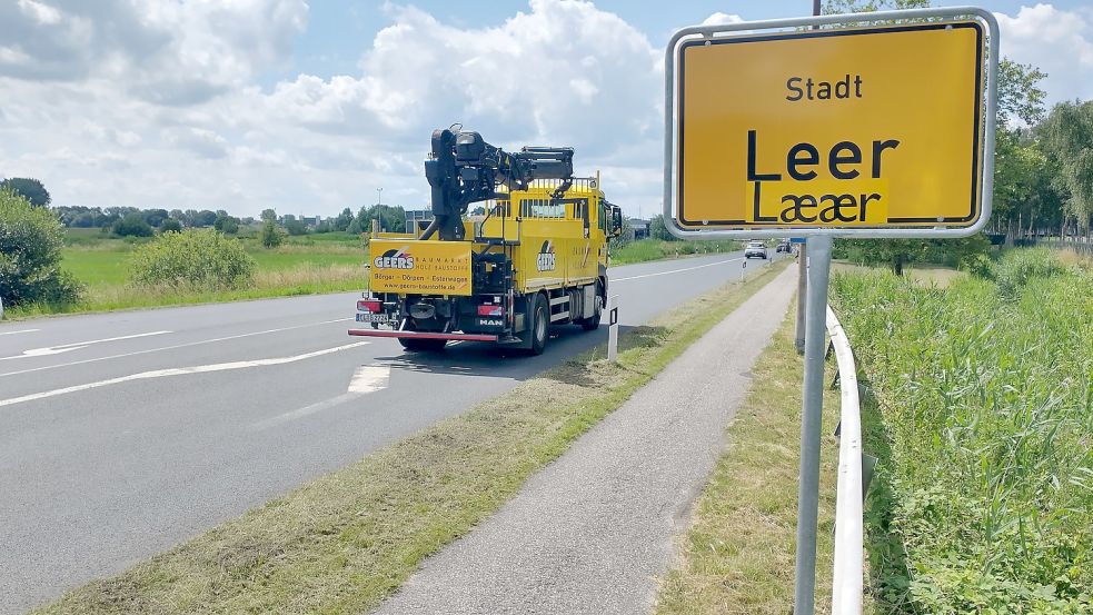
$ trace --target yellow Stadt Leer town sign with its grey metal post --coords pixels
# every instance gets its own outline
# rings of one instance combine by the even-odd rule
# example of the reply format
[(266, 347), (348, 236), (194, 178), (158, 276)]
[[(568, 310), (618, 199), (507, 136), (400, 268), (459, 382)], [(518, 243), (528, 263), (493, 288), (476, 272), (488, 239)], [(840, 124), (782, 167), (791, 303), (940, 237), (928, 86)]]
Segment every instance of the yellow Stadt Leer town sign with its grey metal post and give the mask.
[(807, 239), (795, 615), (815, 606), (832, 238), (983, 229), (997, 75), (997, 21), (974, 7), (700, 26), (668, 41), (668, 231)]

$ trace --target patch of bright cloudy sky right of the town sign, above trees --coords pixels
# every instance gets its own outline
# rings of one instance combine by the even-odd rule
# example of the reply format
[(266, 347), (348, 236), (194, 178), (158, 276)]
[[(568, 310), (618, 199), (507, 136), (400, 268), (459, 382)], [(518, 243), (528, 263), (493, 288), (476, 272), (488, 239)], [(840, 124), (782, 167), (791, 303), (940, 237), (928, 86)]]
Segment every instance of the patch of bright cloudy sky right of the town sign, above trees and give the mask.
[(1093, 98), (1093, 10), (1036, 4), (1021, 7), (1015, 17), (995, 18), (1002, 56), (1047, 73), (1042, 86), (1049, 105)]

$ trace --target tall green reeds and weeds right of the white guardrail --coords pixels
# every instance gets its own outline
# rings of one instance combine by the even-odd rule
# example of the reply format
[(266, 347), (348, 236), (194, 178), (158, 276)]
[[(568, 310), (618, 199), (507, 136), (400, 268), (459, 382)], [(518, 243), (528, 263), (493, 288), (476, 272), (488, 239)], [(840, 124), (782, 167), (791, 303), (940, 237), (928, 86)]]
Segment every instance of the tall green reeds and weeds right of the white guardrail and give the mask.
[(838, 274), (866, 374), (878, 613), (1093, 612), (1093, 272), (1045, 249), (947, 287)]

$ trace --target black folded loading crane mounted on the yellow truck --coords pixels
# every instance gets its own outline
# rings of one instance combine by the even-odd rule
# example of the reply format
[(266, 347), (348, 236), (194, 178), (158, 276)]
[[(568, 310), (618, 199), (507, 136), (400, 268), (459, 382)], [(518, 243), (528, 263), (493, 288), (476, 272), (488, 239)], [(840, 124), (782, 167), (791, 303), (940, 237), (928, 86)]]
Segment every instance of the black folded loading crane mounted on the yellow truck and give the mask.
[(573, 148), (525, 147), (507, 152), (487, 143), (481, 135), (450, 128), (433, 131), (433, 151), (425, 161), (431, 188), (434, 220), (421, 236), (440, 234), (444, 241), (464, 237), (463, 216), (473, 202), (526, 190), (536, 179), (562, 180), (552, 197), (562, 198), (573, 185)]

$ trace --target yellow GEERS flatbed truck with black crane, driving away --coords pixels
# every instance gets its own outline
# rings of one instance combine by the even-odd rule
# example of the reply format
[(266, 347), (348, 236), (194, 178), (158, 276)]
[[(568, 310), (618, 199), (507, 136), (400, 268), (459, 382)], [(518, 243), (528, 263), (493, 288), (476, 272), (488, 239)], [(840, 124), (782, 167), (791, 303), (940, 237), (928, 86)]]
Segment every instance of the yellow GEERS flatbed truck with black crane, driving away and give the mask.
[(349, 335), (394, 337), (408, 350), (474, 340), (537, 355), (552, 326), (599, 326), (622, 211), (598, 176), (574, 177), (572, 149), (506, 152), (477, 132), (441, 129), (425, 169), (434, 219), (369, 241), (362, 326)]

